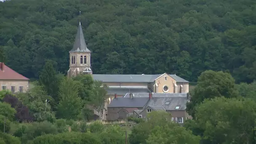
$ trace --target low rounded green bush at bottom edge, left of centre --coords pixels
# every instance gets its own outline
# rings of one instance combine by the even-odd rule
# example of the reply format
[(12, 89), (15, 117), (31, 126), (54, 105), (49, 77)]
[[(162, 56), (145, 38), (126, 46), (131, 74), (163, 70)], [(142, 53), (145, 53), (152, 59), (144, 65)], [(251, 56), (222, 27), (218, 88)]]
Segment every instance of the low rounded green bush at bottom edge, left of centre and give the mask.
[(93, 133), (67, 132), (39, 136), (30, 144), (101, 144), (101, 141)]

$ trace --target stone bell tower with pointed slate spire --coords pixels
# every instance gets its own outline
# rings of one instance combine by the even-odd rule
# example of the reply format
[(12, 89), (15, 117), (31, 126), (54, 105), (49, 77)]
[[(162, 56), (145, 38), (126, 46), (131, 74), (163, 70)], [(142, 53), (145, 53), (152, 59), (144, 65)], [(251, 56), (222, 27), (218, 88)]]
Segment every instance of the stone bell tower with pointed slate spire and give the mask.
[(79, 74), (92, 74), (91, 70), (91, 51), (87, 48), (81, 22), (77, 28), (75, 43), (69, 51), (69, 70), (68, 77), (75, 77)]

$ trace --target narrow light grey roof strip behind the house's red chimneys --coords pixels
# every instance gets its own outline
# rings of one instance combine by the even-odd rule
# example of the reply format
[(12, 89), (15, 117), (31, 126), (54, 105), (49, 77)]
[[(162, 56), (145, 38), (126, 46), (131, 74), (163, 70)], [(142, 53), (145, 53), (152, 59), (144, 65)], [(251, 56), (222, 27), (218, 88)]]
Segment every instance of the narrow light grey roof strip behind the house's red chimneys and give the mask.
[[(133, 93), (134, 97), (149, 97), (149, 93)], [(123, 97), (129, 97), (126, 93)], [(187, 93), (153, 93), (152, 97), (187, 97)]]

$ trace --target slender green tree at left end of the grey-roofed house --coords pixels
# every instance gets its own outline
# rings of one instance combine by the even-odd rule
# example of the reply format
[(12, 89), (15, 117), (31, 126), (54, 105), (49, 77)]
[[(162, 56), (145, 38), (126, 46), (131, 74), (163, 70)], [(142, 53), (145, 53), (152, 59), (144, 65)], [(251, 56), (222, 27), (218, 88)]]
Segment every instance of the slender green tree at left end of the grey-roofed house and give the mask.
[(102, 120), (103, 109), (105, 109), (105, 102), (107, 100), (107, 85), (103, 85), (101, 81), (94, 81), (93, 95), (91, 97), (91, 105), (98, 112), (99, 119)]

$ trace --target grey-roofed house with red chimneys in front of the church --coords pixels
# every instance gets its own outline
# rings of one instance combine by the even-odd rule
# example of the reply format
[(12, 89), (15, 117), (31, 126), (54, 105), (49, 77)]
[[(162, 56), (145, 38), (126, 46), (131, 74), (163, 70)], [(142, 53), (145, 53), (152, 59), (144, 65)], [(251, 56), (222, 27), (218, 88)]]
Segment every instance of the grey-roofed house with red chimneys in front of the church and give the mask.
[[(147, 119), (147, 114), (152, 111), (166, 111), (171, 113), (172, 120), (184, 123), (185, 119), (191, 119), (186, 112), (186, 104), (189, 101), (189, 93), (127, 93), (123, 97), (116, 97), (108, 106), (108, 120), (120, 120), (131, 116)], [(120, 115), (122, 109), (133, 108), (133, 112), (126, 112), (124, 117)]]

